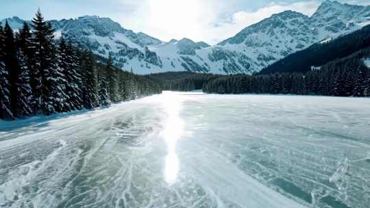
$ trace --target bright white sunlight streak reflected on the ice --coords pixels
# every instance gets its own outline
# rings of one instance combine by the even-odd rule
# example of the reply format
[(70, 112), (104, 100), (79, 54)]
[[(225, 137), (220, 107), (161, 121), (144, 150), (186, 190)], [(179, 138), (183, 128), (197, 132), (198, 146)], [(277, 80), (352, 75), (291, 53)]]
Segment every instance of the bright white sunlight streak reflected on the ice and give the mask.
[(162, 138), (167, 144), (167, 157), (164, 168), (164, 179), (174, 183), (179, 172), (180, 164), (176, 154), (176, 143), (184, 133), (184, 121), (180, 118), (181, 97), (175, 92), (164, 92), (163, 103), (168, 114), (162, 131)]

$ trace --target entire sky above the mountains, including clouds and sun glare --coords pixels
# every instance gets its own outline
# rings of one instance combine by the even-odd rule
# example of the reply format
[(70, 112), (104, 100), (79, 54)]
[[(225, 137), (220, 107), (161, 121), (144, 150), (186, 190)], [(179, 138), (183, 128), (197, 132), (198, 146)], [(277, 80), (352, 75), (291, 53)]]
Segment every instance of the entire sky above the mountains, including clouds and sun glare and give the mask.
[[(310, 15), (321, 0), (2, 0), (0, 18), (30, 19), (40, 7), (47, 19), (84, 15), (110, 17), (126, 29), (170, 40), (190, 38), (210, 44), (271, 14), (295, 10)], [(370, 4), (370, 0), (342, 3)]]

